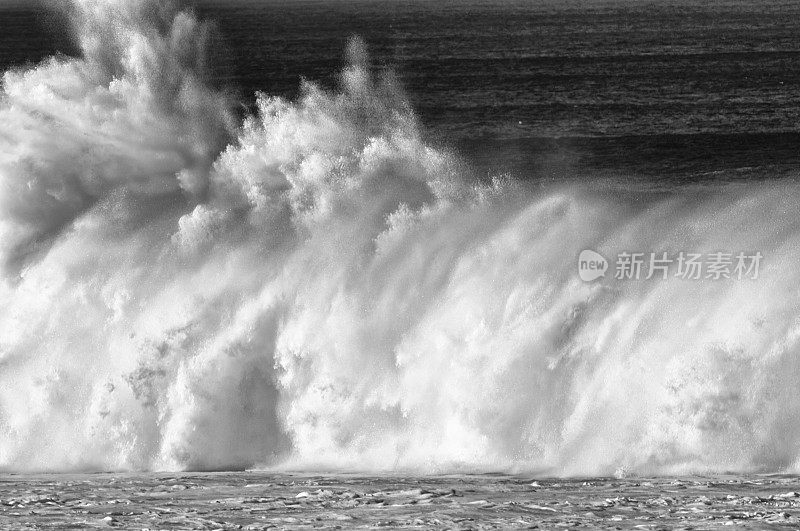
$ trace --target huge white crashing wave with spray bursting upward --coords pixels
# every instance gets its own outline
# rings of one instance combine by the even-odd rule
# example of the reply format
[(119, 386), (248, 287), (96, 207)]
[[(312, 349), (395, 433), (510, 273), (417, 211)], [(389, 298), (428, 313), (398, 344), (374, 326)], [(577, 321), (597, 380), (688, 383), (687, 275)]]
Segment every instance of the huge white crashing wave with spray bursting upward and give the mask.
[(70, 10), (82, 57), (3, 77), (0, 469), (797, 470), (796, 184), (476, 184), (357, 41), (239, 123), (190, 13)]

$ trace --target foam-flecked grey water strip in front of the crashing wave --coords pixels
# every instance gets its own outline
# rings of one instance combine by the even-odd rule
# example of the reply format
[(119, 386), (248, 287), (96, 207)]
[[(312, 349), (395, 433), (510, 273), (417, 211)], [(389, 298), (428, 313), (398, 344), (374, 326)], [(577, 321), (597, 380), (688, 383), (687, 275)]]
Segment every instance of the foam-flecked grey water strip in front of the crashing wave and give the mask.
[(798, 491), (784, 476), (11, 476), (0, 528), (795, 529)]

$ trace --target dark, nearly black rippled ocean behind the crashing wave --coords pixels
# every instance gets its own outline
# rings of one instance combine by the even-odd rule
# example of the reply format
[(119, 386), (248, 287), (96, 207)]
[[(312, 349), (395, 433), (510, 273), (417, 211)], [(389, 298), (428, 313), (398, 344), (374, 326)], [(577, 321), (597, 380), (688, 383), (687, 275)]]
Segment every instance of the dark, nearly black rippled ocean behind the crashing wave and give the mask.
[[(347, 40), (433, 142), (483, 170), (670, 179), (793, 175), (800, 1), (210, 1), (218, 81), (252, 103), (333, 86)], [(0, 10), (0, 68), (75, 53), (64, 17)]]

